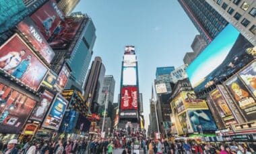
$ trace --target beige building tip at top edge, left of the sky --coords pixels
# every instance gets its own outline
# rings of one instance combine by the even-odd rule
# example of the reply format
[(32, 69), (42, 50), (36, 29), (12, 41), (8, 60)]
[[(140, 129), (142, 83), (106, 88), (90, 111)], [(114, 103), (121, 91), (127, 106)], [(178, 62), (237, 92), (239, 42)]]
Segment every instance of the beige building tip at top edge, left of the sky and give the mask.
[(80, 0), (57, 0), (58, 6), (62, 9), (65, 15), (69, 15)]

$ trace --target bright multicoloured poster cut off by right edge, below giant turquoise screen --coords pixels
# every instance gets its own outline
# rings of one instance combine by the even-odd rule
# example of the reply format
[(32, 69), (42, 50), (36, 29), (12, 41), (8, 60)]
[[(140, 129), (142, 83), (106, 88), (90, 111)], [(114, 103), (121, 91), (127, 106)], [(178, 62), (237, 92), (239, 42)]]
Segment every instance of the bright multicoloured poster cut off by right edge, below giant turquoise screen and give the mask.
[(256, 62), (249, 64), (245, 69), (238, 73), (249, 90), (256, 96)]

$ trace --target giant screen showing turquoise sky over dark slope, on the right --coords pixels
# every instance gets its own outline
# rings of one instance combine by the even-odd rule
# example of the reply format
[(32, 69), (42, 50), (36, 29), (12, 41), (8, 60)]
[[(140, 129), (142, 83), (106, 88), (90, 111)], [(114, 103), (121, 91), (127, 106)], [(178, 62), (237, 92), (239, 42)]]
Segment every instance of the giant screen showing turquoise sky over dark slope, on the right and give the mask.
[(198, 92), (221, 82), (251, 62), (253, 56), (246, 50), (252, 46), (235, 27), (227, 25), (187, 67), (194, 90)]

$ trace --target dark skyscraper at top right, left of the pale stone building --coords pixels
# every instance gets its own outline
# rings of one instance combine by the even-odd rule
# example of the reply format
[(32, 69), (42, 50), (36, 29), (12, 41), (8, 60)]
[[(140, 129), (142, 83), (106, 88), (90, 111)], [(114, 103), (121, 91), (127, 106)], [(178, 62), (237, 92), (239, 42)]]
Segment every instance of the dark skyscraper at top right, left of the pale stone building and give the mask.
[(179, 3), (207, 44), (228, 24), (205, 0), (179, 0)]

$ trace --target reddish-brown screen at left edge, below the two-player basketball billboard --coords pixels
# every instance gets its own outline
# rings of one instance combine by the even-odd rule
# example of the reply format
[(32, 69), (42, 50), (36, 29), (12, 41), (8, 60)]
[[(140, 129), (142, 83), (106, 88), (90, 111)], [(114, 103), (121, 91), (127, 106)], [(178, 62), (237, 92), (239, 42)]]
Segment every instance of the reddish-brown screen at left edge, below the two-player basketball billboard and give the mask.
[(0, 83), (0, 132), (20, 133), (36, 101)]

